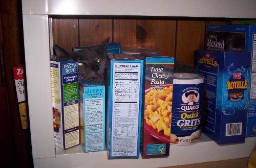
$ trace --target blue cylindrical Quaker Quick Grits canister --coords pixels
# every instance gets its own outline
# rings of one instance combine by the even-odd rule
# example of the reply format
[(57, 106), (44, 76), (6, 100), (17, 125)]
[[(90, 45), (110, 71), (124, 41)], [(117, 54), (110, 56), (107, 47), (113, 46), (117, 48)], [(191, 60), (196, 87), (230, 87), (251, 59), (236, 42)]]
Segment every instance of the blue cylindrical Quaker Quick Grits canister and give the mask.
[(191, 145), (201, 139), (204, 77), (174, 73), (170, 143)]

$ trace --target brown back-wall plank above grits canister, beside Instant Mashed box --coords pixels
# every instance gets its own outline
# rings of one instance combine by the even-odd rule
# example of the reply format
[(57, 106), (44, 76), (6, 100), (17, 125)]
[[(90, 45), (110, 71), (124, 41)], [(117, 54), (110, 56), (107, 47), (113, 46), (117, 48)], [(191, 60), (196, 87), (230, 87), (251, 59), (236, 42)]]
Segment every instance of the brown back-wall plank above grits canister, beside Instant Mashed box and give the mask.
[(205, 21), (178, 20), (176, 61), (194, 66), (196, 49), (204, 47)]

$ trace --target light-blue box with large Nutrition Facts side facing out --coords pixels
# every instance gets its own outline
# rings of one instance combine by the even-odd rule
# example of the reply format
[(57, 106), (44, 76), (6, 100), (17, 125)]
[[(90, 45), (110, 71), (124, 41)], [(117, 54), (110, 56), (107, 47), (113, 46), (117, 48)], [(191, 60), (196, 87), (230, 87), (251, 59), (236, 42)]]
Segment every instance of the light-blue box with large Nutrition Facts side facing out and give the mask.
[(138, 158), (143, 60), (131, 55), (108, 55), (106, 67), (108, 156)]

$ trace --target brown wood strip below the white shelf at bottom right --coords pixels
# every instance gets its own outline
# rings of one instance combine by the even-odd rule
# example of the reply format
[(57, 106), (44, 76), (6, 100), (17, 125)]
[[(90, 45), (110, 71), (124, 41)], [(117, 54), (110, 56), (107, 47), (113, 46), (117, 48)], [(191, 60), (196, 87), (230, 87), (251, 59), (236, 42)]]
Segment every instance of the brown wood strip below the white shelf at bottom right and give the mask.
[(221, 161), (212, 161), (205, 163), (197, 163), (197, 164), (187, 164), (187, 165), (179, 165), (179, 166), (171, 166), (164, 168), (246, 168), (248, 163), (248, 158), (240, 158), (240, 159), (230, 159), (230, 160), (221, 160)]

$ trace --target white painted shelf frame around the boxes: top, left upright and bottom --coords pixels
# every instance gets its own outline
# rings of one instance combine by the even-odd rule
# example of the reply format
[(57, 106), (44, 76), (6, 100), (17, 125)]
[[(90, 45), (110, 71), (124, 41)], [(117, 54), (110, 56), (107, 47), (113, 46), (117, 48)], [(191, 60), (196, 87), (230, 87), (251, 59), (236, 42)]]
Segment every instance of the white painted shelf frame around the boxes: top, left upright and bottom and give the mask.
[[(172, 146), (170, 157), (158, 159), (107, 160), (105, 152), (80, 153), (79, 147), (65, 152), (57, 151), (55, 154), (50, 99), (49, 15), (256, 18), (255, 0), (23, 0), (22, 4), (30, 130), (35, 167), (160, 167), (249, 156), (256, 137), (247, 138), (246, 143), (222, 147), (204, 137), (202, 142), (193, 146)], [(69, 153), (70, 151), (72, 152)], [(211, 154), (210, 151), (214, 152)]]

